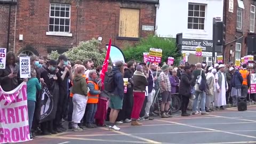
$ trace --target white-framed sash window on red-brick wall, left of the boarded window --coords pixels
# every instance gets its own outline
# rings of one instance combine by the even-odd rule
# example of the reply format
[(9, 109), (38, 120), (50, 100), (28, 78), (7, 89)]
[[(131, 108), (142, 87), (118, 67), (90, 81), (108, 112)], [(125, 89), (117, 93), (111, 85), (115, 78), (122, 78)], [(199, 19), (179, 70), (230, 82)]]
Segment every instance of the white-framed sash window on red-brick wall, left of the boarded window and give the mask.
[(70, 5), (51, 4), (49, 31), (57, 33), (70, 32)]

